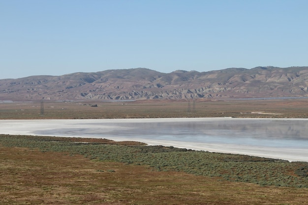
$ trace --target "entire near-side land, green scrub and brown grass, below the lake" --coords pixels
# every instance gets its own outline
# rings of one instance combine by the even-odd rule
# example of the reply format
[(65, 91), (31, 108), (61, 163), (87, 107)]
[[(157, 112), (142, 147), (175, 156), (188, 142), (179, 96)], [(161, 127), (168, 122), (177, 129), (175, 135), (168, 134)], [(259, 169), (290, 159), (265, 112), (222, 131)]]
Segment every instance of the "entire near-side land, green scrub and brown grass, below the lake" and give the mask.
[(297, 188), (308, 187), (302, 162), (10, 135), (0, 136), (0, 155), (3, 205), (308, 204), (308, 189)]

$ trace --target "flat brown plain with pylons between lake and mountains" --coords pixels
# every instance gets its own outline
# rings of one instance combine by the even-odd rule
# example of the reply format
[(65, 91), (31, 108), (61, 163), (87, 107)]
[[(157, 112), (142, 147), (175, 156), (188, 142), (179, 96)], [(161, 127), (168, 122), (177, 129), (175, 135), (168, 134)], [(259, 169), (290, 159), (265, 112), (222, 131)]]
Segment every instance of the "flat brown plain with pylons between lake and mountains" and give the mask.
[(154, 117), (288, 117), (307, 118), (308, 99), (224, 101), (67, 101), (0, 104), (0, 119), (88, 119)]

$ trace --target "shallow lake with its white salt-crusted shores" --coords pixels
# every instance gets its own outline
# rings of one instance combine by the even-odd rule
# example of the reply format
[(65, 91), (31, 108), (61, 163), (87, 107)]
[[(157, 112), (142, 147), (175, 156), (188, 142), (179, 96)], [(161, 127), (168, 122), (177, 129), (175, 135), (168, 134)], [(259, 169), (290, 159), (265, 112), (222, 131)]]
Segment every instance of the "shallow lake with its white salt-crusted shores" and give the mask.
[(308, 119), (147, 118), (0, 120), (0, 134), (106, 138), (308, 161)]

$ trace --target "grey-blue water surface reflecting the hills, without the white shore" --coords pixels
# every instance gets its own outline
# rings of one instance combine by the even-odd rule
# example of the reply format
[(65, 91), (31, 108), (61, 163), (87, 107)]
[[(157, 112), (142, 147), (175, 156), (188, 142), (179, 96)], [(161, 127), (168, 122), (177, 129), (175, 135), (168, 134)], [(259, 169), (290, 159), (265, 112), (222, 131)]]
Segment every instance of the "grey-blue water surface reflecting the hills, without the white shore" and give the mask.
[[(76, 121), (77, 123), (77, 121)], [(74, 122), (74, 125), (76, 124)], [(306, 119), (202, 118), (103, 120), (78, 128), (45, 129), (37, 135), (139, 138), (189, 143), (308, 147)]]

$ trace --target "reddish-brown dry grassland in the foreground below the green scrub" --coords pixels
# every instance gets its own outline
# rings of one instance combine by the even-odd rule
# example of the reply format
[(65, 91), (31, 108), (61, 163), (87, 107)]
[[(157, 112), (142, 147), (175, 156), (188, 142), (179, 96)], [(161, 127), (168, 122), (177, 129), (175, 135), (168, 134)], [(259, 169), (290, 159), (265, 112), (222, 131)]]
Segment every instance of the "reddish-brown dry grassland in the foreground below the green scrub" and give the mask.
[(259, 186), (62, 152), (0, 147), (1, 205), (308, 204), (308, 189)]

